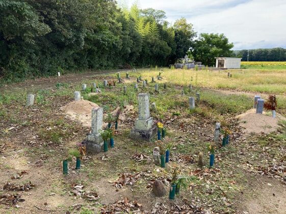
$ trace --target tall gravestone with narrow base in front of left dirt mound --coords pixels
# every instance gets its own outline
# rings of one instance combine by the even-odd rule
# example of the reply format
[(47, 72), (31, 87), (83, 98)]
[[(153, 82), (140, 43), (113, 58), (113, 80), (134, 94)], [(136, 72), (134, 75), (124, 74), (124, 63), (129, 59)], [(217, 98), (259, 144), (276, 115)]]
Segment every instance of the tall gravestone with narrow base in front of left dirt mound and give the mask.
[(102, 130), (103, 109), (100, 107), (92, 109), (91, 134), (87, 135), (86, 149), (91, 153), (99, 153), (103, 148), (103, 140), (99, 130)]

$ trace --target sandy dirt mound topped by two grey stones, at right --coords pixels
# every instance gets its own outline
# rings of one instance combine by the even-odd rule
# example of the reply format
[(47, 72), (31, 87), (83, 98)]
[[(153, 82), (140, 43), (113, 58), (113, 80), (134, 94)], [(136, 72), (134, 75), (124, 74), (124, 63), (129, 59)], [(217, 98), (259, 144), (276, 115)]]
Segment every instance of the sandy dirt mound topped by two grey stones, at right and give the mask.
[(240, 126), (245, 128), (244, 133), (270, 133), (278, 128), (278, 121), (285, 120), (283, 116), (277, 114), (276, 118), (271, 115), (256, 114), (256, 109), (250, 109), (247, 112), (237, 116), (241, 120)]

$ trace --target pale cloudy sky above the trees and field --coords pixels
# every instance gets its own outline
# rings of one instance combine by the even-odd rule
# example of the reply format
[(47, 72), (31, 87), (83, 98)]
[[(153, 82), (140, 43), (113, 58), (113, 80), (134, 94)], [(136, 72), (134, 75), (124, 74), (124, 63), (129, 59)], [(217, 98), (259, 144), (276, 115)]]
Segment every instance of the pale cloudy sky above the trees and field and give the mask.
[[(119, 0), (131, 6), (134, 1)], [(286, 0), (141, 0), (141, 9), (185, 17), (198, 34), (223, 33), (233, 49), (286, 48)]]

